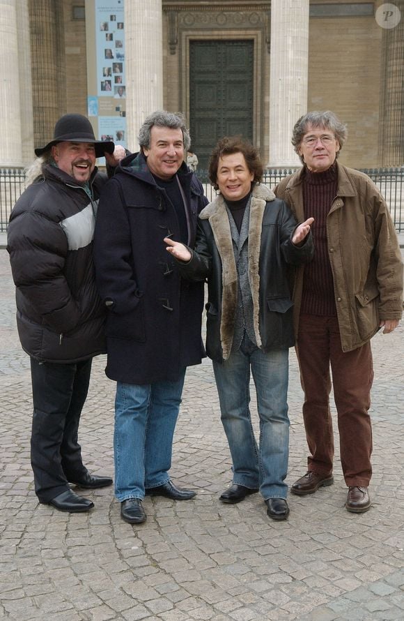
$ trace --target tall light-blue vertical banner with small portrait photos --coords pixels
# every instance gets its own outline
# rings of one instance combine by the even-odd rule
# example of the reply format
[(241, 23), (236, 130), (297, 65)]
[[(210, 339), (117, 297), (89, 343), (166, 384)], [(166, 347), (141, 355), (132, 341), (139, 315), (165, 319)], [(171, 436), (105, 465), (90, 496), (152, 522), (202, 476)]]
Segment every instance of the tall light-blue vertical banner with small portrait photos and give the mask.
[(88, 54), (88, 117), (96, 117), (91, 121), (100, 140), (126, 147), (124, 0), (92, 0), (92, 4), (95, 54)]

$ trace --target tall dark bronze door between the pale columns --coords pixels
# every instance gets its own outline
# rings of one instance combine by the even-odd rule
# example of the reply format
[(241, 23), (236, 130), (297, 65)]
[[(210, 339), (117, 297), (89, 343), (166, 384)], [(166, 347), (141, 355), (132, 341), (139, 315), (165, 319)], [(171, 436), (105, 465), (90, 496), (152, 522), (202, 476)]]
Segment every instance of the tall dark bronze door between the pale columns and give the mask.
[(189, 43), (189, 124), (199, 169), (223, 136), (253, 137), (254, 42)]

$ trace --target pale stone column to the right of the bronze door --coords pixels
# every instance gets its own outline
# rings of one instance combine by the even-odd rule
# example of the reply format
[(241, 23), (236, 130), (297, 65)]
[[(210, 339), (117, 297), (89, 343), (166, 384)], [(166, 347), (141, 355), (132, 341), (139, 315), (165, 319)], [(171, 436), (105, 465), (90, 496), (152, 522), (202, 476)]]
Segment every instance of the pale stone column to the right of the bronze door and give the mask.
[(270, 59), (270, 167), (299, 166), (290, 143), (307, 112), (309, 0), (272, 0)]

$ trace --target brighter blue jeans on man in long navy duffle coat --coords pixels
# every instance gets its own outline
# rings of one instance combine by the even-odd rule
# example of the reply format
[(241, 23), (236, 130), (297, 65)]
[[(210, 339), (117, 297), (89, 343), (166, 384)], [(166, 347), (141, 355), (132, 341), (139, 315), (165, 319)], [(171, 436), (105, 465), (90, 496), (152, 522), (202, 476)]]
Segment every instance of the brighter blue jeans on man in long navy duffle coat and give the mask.
[(114, 461), (119, 502), (169, 481), (185, 368), (176, 382), (116, 384)]

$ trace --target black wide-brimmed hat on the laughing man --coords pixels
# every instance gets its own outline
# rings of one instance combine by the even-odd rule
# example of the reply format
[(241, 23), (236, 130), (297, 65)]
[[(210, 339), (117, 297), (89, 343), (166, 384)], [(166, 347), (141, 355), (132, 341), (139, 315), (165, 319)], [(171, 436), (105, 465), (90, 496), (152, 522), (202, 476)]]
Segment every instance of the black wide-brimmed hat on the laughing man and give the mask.
[(93, 142), (95, 156), (104, 157), (104, 152), (114, 153), (115, 144), (110, 140), (95, 140), (93, 126), (82, 114), (65, 114), (56, 122), (54, 138), (47, 143), (46, 147), (35, 149), (36, 156), (40, 157), (49, 151), (58, 142)]

